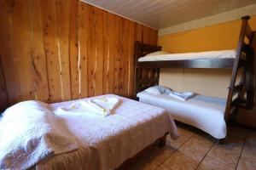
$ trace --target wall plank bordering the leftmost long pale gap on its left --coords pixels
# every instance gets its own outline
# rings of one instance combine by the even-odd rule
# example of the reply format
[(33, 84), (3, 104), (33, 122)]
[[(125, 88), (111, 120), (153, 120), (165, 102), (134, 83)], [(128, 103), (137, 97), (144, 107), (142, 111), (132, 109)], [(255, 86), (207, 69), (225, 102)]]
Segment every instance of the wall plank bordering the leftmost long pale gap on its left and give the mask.
[(49, 100), (51, 102), (63, 99), (63, 87), (61, 85), (60, 48), (57, 32), (57, 17), (55, 0), (41, 1), (44, 26), (44, 48), (47, 60), (47, 72), (49, 82)]

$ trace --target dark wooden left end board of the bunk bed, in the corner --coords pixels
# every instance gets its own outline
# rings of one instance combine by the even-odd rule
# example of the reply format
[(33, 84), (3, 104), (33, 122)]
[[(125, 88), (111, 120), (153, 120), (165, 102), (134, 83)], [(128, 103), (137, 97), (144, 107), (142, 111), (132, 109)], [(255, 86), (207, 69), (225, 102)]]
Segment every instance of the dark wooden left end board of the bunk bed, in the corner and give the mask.
[(142, 42), (135, 42), (134, 47), (134, 59), (135, 59), (135, 72), (134, 72), (134, 98), (137, 99), (137, 93), (143, 91), (146, 88), (149, 88), (154, 85), (159, 84), (160, 69), (154, 68), (138, 68), (137, 63), (140, 57), (143, 57), (146, 54), (160, 51), (160, 46), (154, 46), (145, 44)]

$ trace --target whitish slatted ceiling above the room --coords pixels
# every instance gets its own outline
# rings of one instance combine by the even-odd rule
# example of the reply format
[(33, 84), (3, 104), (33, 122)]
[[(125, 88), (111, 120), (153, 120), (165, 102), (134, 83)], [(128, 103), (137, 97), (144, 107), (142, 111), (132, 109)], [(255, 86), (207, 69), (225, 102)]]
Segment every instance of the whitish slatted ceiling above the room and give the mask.
[(82, 0), (156, 29), (256, 3), (256, 0)]

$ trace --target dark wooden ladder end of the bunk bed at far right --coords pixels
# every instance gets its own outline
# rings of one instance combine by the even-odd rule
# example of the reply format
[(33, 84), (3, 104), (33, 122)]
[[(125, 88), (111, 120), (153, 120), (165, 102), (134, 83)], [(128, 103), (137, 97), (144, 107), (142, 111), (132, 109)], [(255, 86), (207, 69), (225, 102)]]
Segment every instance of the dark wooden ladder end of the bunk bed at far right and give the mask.
[[(229, 94), (224, 118), (227, 123), (235, 122), (238, 108), (252, 109), (254, 103), (254, 74), (253, 74), (253, 36), (254, 31), (247, 24), (249, 16), (242, 17), (242, 26), (236, 48), (236, 59), (230, 80)], [(248, 42), (245, 42), (247, 37)], [(241, 68), (241, 80), (236, 85), (238, 70)], [(245, 97), (246, 96), (246, 97)]]

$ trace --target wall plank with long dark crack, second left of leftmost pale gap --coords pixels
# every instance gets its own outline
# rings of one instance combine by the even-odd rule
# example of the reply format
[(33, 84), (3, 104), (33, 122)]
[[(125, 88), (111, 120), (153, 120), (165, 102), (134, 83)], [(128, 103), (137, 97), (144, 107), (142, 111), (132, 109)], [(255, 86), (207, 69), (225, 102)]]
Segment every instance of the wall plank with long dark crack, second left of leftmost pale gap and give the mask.
[(44, 37), (39, 1), (27, 0), (30, 25), (30, 55), (35, 99), (48, 101), (49, 88), (44, 52)]

